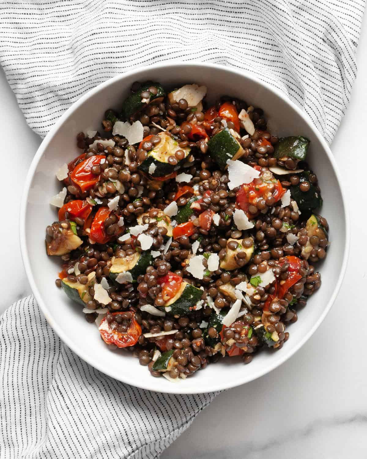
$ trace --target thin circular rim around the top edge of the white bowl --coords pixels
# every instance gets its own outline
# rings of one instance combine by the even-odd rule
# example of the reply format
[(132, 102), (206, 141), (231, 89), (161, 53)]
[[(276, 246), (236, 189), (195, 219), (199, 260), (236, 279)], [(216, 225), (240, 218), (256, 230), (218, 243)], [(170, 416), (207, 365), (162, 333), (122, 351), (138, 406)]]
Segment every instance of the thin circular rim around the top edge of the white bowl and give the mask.
[[(311, 329), (306, 333), (305, 336), (300, 340), (299, 343), (297, 343), (295, 346), (293, 346), (287, 353), (284, 353), (284, 356), (280, 358), (279, 361), (274, 362), (273, 364), (270, 363), (267, 367), (264, 367), (264, 369), (261, 369), (251, 375), (245, 375), (243, 378), (239, 378), (236, 381), (231, 381), (228, 379), (227, 383), (220, 383), (217, 384), (215, 381), (211, 384), (211, 388), (209, 392), (213, 391), (220, 391), (220, 390), (225, 390), (229, 389), (232, 387), (240, 386), (242, 384), (245, 384), (250, 381), (254, 381), (257, 378), (260, 378), (263, 375), (266, 375), (267, 373), (270, 373), (273, 369), (277, 368), (278, 366), (284, 364), (286, 360), (288, 360), (290, 357), (292, 357), (305, 343), (306, 341), (309, 340), (309, 338), (315, 333), (317, 328), (321, 325), (323, 320), (325, 319), (326, 315), (330, 311), (332, 305), (334, 304), (334, 301), (339, 293), (341, 283), (344, 279), (345, 276), (345, 271), (346, 271), (346, 266), (348, 262), (348, 256), (349, 256), (349, 248), (350, 248), (350, 220), (349, 220), (349, 210), (347, 207), (347, 201), (345, 198), (345, 192), (343, 189), (343, 181), (341, 179), (341, 175), (339, 173), (339, 168), (338, 165), (334, 159), (334, 156), (326, 142), (326, 140), (323, 138), (323, 136), (320, 134), (320, 132), (317, 130), (315, 125), (313, 124), (311, 118), (303, 112), (293, 101), (291, 101), (284, 93), (282, 93), (280, 90), (277, 88), (271, 86), (270, 84), (267, 84), (263, 81), (261, 81), (259, 78), (257, 78), (255, 75), (252, 73), (249, 73), (245, 70), (238, 70), (234, 67), (227, 67), (224, 65), (220, 64), (214, 64), (214, 63), (206, 63), (206, 62), (198, 62), (198, 61), (190, 61), (190, 62), (185, 62), (185, 61), (167, 61), (167, 62), (160, 62), (151, 66), (142, 66), (142, 67), (136, 67), (133, 70), (129, 70), (126, 73), (120, 73), (116, 75), (113, 78), (109, 78), (103, 83), (98, 84), (95, 86), (95, 88), (89, 90), (87, 93), (82, 95), (78, 101), (75, 101), (72, 103), (72, 105), (64, 112), (61, 117), (56, 121), (56, 123), (53, 125), (53, 127), (50, 129), (48, 134), (45, 136), (44, 140), (42, 141), (41, 145), (39, 146), (35, 156), (33, 157), (32, 163), (29, 167), (27, 177), (25, 179), (24, 183), (24, 188), (23, 188), (23, 193), (22, 193), (22, 200), (21, 200), (21, 205), (20, 205), (20, 218), (19, 218), (19, 237), (20, 237), (20, 248), (21, 248), (21, 254), (22, 254), (22, 261), (23, 265), (28, 277), (29, 284), (31, 286), (33, 295), (39, 304), (39, 307), (41, 308), (41, 311), (44, 313), (44, 316), (49, 323), (49, 325), (52, 327), (52, 329), (56, 332), (56, 334), (61, 338), (61, 340), (73, 351), (75, 352), (80, 358), (82, 358), (85, 362), (88, 364), (92, 365), (94, 368), (100, 370), (102, 373), (117, 379), (117, 381), (122, 381), (126, 384), (139, 387), (141, 389), (146, 389), (150, 390), (153, 392), (163, 392), (163, 393), (172, 393), (172, 394), (195, 394), (195, 393), (205, 393), (208, 392), (208, 389), (205, 387), (198, 387), (197, 389), (191, 389), (191, 388), (185, 388), (184, 383), (183, 384), (167, 384), (167, 389), (165, 388), (164, 390), (161, 390), (160, 388), (155, 388), (154, 384), (147, 384), (144, 381), (135, 381), (133, 377), (130, 375), (122, 375), (122, 377), (117, 377), (116, 375), (113, 374), (113, 371), (108, 371), (105, 368), (101, 368), (101, 365), (97, 362), (92, 362), (91, 358), (89, 357), (88, 353), (85, 353), (75, 347), (73, 343), (69, 340), (68, 336), (60, 329), (58, 324), (54, 322), (49, 314), (48, 314), (48, 308), (46, 304), (44, 303), (41, 294), (39, 292), (39, 289), (35, 283), (33, 274), (32, 274), (32, 269), (30, 265), (30, 260), (28, 256), (28, 248), (26, 244), (26, 212), (27, 212), (27, 201), (28, 201), (28, 193), (30, 189), (30, 185), (33, 180), (33, 175), (35, 173), (35, 170), (38, 166), (38, 163), (40, 159), (42, 158), (44, 151), (46, 148), (49, 146), (50, 141), (52, 140), (54, 134), (56, 131), (59, 129), (62, 123), (74, 112), (81, 104), (83, 104), (84, 101), (87, 99), (93, 97), (96, 93), (98, 93), (100, 90), (106, 88), (110, 84), (113, 84), (117, 80), (123, 80), (126, 77), (132, 76), (132, 75), (137, 75), (139, 77), (139, 73), (145, 72), (145, 71), (154, 71), (156, 69), (161, 69), (162, 67), (176, 67), (176, 66), (181, 66), (184, 65), (186, 67), (202, 67), (205, 70), (210, 70), (210, 69), (221, 69), (224, 70), (228, 73), (233, 73), (236, 76), (240, 77), (245, 77), (251, 80), (252, 82), (258, 84), (259, 86), (265, 87), (267, 90), (271, 91), (278, 97), (280, 97), (286, 104), (288, 104), (291, 109), (293, 109), (295, 112), (297, 112), (300, 117), (305, 121), (305, 123), (310, 127), (310, 129), (313, 131), (313, 133), (316, 135), (317, 139), (320, 141), (320, 143), (323, 146), (324, 151), (326, 152), (326, 155), (329, 159), (329, 161), (332, 164), (332, 167), (334, 169), (334, 173), (336, 175), (337, 181), (339, 183), (340, 187), (340, 193), (342, 196), (342, 202), (343, 202), (343, 208), (344, 208), (344, 221), (345, 221), (345, 248), (343, 252), (343, 262), (340, 267), (339, 271), (339, 276), (338, 280), (335, 284), (334, 292), (331, 295), (331, 297), (328, 300), (328, 303), (323, 309), (323, 312), (321, 313), (320, 317), (317, 319), (315, 324), (311, 327)], [(153, 379), (153, 378), (152, 378)], [(153, 381), (152, 381), (153, 382)], [(183, 381), (184, 382), (184, 381)], [(179, 386), (179, 387), (177, 387)]]

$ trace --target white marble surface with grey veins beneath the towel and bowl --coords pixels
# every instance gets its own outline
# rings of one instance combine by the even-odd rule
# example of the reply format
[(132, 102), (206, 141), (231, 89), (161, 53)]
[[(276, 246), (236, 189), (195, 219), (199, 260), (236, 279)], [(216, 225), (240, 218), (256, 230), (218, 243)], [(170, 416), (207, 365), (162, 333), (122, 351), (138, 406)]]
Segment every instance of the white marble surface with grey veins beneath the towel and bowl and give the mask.
[[(364, 30), (350, 106), (332, 145), (345, 181), (352, 228), (349, 264), (339, 297), (295, 356), (271, 374), (220, 394), (163, 453), (164, 459), (367, 457), (366, 47)], [(0, 95), (0, 137), (6, 146), (2, 155), (11, 158), (4, 162), (9, 166), (3, 173), (3, 189), (16, 190), (2, 202), (0, 237), (6, 260), (0, 276), (2, 312), (30, 293), (17, 226), (22, 179), (40, 139), (27, 127), (3, 73)]]

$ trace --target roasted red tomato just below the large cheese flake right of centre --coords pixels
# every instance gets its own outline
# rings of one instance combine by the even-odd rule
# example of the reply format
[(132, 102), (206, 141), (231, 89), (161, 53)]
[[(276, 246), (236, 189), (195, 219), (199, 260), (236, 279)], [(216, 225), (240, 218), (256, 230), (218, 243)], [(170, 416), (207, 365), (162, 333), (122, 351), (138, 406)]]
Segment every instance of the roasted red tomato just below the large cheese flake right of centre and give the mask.
[[(259, 166), (254, 169), (261, 170)], [(241, 185), (236, 193), (236, 205), (242, 209), (249, 218), (253, 218), (256, 214), (249, 213), (250, 204), (256, 206), (259, 198), (266, 199), (269, 196), (274, 198), (274, 202), (284, 195), (285, 188), (282, 187), (279, 180), (275, 179), (270, 171), (262, 170), (260, 177), (252, 180), (251, 183)]]

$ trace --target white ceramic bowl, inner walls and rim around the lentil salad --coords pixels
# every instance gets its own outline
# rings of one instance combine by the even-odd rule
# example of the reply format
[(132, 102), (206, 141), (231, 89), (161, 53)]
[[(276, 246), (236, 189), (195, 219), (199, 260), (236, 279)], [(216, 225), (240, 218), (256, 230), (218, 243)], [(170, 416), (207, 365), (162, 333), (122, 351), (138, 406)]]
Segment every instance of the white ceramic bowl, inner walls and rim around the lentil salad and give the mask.
[[(118, 108), (131, 84), (152, 79), (163, 86), (198, 83), (208, 88), (209, 100), (229, 94), (264, 109), (278, 135), (304, 135), (311, 140), (307, 160), (317, 173), (323, 195), (322, 215), (330, 225), (332, 244), (320, 266), (323, 285), (312, 295), (299, 320), (289, 326), (289, 341), (279, 352), (256, 355), (250, 365), (225, 358), (180, 383), (153, 378), (137, 359), (110, 351), (95, 325), (88, 324), (81, 307), (55, 286), (60, 264), (47, 257), (44, 231), (56, 220), (49, 200), (61, 190), (55, 173), (64, 162), (79, 154), (75, 136), (86, 129), (100, 129), (107, 108)], [(340, 176), (332, 153), (311, 120), (283, 94), (248, 73), (202, 63), (158, 64), (118, 75), (83, 95), (50, 130), (39, 147), (25, 183), (20, 213), (22, 257), (34, 296), (51, 327), (86, 362), (103, 373), (133, 386), (159, 392), (197, 393), (238, 386), (278, 367), (314, 333), (328, 313), (345, 273), (349, 248), (349, 224)], [(312, 356), (310, 356), (312, 358)]]

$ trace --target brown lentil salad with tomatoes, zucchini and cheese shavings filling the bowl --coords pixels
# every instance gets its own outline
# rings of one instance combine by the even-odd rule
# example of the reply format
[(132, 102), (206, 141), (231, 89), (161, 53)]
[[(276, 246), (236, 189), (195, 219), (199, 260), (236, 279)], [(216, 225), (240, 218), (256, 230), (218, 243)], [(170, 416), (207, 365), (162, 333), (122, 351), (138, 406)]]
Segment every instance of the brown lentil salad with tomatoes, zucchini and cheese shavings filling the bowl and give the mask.
[(309, 140), (205, 86), (134, 83), (63, 164), (46, 251), (103, 341), (180, 381), (224, 356), (279, 350), (321, 286), (328, 223)]

